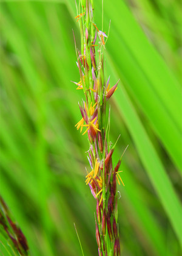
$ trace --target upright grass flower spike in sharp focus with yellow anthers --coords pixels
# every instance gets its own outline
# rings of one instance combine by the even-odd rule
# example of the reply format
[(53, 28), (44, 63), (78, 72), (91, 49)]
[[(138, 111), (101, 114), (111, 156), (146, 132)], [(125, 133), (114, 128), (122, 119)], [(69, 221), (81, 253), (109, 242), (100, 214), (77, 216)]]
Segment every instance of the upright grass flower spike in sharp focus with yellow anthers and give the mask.
[(107, 82), (105, 80), (104, 49), (107, 35), (96, 27), (93, 10), (93, 0), (81, 0), (75, 17), (81, 32), (81, 51), (76, 49), (80, 80), (73, 83), (77, 90), (83, 90), (85, 96), (85, 100), (79, 105), (82, 118), (75, 126), (89, 138), (88, 159), (91, 171), (86, 175), (86, 185), (89, 185), (96, 199), (98, 253), (118, 256), (120, 241), (116, 181), (124, 183), (119, 171), (121, 158), (115, 168), (112, 165), (116, 144), (111, 148), (109, 143), (110, 116), (106, 124), (106, 103), (115, 92), (118, 82), (110, 88), (109, 79)]

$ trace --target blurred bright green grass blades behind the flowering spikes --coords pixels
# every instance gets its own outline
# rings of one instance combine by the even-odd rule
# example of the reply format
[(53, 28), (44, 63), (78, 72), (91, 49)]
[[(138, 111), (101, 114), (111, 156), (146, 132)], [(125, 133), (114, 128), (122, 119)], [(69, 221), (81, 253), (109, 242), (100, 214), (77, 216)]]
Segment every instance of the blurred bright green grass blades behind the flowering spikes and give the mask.
[[(98, 0), (99, 29), (101, 15)], [(35, 256), (81, 255), (74, 222), (84, 254), (98, 254), (89, 144), (75, 129), (83, 92), (70, 82), (79, 80), (75, 16), (73, 0), (1, 0), (1, 195)], [(181, 255), (180, 1), (104, 0), (106, 34), (110, 20), (106, 79), (121, 79), (109, 101), (112, 143), (121, 134), (115, 164), (129, 144), (121, 252)]]

